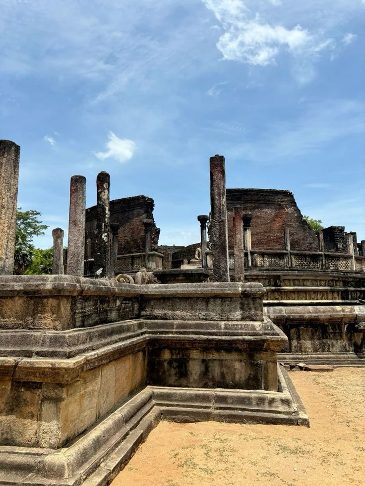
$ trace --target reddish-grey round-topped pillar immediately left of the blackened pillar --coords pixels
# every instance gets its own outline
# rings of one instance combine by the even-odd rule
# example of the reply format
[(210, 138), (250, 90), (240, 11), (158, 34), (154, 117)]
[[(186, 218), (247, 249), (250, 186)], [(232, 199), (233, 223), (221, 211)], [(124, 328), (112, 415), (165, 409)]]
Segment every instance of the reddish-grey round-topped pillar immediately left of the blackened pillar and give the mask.
[(86, 178), (73, 175), (70, 182), (67, 274), (84, 276)]

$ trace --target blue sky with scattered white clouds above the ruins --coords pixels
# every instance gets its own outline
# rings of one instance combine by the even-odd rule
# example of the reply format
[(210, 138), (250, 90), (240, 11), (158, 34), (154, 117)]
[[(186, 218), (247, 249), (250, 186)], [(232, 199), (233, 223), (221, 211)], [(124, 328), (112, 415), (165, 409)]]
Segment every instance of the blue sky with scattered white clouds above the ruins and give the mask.
[(154, 198), (161, 244), (199, 241), (214, 154), (227, 187), (365, 239), (364, 26), (365, 0), (1, 0), (0, 138), (50, 225), (35, 244), (101, 170), (112, 199)]

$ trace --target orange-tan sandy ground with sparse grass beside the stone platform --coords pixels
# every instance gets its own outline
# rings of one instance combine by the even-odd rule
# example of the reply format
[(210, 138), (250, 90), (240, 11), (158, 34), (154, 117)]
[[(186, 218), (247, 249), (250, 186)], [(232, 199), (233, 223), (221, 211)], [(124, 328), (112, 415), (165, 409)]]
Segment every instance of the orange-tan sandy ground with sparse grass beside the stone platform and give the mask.
[(112, 485), (365, 485), (365, 369), (290, 377), (310, 429), (161, 422)]

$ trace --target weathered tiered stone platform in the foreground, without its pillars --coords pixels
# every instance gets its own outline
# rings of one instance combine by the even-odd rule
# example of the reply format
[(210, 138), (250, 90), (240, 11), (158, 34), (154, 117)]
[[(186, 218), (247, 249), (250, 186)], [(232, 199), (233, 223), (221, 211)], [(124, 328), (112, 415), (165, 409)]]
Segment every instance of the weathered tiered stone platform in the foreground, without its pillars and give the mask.
[(0, 484), (107, 484), (161, 419), (307, 425), (264, 294), (0, 277)]

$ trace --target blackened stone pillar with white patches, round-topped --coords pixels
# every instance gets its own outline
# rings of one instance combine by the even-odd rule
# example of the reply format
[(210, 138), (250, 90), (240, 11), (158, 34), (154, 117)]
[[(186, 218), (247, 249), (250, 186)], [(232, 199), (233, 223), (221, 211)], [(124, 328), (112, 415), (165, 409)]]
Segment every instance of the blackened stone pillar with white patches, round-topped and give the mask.
[(95, 278), (111, 278), (110, 262), (110, 175), (100, 172), (96, 178)]

